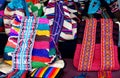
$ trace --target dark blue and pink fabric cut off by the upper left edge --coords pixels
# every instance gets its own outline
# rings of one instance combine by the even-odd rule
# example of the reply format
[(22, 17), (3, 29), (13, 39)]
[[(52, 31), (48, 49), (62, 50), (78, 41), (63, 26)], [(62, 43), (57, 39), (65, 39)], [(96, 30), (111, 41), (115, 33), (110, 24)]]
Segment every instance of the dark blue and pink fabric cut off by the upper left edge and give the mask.
[(0, 32), (4, 31), (3, 16), (6, 0), (0, 1)]

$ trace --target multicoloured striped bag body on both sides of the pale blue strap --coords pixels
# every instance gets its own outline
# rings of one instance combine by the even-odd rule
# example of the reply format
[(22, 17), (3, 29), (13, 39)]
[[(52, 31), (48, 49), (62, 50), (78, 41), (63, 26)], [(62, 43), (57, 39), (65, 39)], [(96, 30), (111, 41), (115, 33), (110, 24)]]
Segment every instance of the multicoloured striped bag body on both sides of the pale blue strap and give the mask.
[[(16, 17), (17, 18), (17, 17)], [(49, 51), (50, 46), (50, 28), (48, 25), (49, 21), (46, 18), (40, 18), (38, 20), (38, 26), (36, 30), (35, 42), (32, 50), (32, 67), (38, 68), (48, 65), (54, 59), (53, 54)], [(16, 25), (18, 24), (18, 25)], [(18, 35), (20, 31), (20, 24), (18, 20), (13, 21), (11, 28), (10, 37), (5, 47), (4, 60), (6, 63), (11, 65), (12, 53), (14, 52)], [(51, 54), (49, 56), (49, 54)]]

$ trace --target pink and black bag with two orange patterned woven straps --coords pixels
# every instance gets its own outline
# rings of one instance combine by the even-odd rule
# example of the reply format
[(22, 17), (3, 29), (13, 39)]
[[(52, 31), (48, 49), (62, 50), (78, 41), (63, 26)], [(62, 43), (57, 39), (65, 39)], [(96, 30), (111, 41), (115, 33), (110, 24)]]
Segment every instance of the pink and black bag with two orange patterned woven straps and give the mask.
[[(82, 21), (73, 64), (78, 71), (98, 71), (98, 77), (111, 78), (111, 71), (119, 70), (119, 26), (112, 19), (95, 18)], [(104, 75), (104, 76), (105, 76)]]

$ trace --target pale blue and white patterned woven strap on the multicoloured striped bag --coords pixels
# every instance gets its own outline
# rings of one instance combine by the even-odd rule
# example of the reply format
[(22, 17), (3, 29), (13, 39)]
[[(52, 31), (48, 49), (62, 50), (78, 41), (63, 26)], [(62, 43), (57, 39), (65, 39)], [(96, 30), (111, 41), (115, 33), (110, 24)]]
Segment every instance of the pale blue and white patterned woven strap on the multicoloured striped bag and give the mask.
[(31, 54), (37, 26), (36, 18), (26, 17), (23, 21), (17, 47), (13, 53), (13, 69), (31, 70)]

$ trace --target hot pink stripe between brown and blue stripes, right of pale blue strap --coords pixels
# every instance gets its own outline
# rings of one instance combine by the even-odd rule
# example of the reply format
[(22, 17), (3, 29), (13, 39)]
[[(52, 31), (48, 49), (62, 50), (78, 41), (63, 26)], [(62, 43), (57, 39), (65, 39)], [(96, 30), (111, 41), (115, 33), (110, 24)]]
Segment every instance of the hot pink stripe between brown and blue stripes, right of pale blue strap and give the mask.
[(36, 49), (49, 49), (49, 42), (48, 41), (41, 41), (41, 42), (34, 42), (34, 48)]

